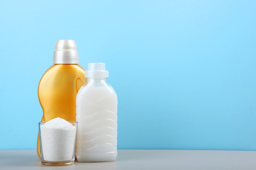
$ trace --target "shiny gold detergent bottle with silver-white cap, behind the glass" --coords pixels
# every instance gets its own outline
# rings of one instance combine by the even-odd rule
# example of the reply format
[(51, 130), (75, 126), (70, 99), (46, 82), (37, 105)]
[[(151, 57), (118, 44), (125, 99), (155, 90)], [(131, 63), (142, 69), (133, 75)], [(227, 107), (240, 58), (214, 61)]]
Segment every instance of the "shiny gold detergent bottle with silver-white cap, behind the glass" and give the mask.
[[(86, 82), (85, 70), (79, 65), (79, 53), (74, 40), (58, 40), (53, 64), (40, 79), (38, 99), (43, 109), (41, 121), (61, 117), (76, 120), (76, 94)], [(37, 154), (40, 157), (39, 137)]]

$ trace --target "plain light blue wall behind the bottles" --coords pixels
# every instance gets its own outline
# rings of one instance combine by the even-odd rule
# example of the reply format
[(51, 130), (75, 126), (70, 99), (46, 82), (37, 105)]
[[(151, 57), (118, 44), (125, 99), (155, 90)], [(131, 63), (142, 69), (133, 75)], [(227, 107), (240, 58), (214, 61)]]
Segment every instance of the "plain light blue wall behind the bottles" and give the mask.
[(256, 150), (255, 0), (1, 0), (0, 150), (36, 149), (60, 39), (106, 63), (118, 149)]

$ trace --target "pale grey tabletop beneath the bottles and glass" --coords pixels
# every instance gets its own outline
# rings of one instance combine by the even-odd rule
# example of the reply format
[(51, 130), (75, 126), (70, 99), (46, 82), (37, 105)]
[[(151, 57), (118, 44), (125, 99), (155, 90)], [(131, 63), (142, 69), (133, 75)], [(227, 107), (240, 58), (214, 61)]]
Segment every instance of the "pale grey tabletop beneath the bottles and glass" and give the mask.
[(114, 162), (44, 166), (36, 150), (0, 150), (0, 170), (256, 170), (256, 151), (118, 150)]

